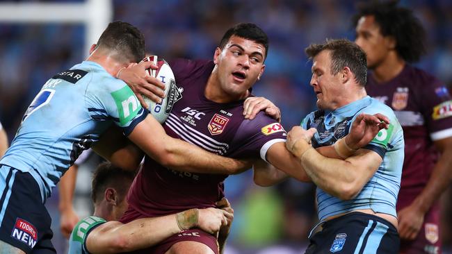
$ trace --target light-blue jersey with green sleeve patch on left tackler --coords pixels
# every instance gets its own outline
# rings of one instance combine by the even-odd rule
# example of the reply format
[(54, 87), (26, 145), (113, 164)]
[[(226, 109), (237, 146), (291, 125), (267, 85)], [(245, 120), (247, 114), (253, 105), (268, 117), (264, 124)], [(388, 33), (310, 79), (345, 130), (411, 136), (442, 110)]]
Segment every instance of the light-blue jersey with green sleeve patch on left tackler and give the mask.
[(31, 173), (45, 201), (106, 128), (115, 123), (129, 135), (146, 115), (126, 83), (95, 62), (82, 62), (42, 86), (0, 164)]

